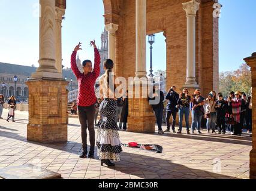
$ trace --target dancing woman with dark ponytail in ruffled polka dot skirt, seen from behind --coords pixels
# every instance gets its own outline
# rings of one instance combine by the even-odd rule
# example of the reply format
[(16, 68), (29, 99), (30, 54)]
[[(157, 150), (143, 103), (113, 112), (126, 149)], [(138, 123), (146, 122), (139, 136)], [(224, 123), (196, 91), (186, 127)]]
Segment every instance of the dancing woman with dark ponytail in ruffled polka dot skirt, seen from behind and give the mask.
[(97, 148), (98, 156), (101, 159), (101, 165), (115, 166), (112, 161), (120, 161), (120, 153), (122, 152), (121, 141), (119, 140), (116, 124), (116, 97), (114, 85), (116, 76), (111, 74), (114, 63), (107, 59), (104, 62), (104, 70), (106, 72), (100, 77), (100, 93), (103, 101), (100, 104), (100, 121), (98, 122), (97, 132)]

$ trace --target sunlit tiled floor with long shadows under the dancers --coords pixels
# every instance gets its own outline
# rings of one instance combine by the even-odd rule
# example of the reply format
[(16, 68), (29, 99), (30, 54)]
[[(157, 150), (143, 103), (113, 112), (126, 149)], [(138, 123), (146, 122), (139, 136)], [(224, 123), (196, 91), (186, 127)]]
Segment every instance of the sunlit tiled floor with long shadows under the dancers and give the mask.
[[(2, 116), (7, 115), (4, 110)], [(0, 119), (0, 168), (34, 164), (59, 172), (63, 178), (249, 178), (251, 137), (244, 135), (120, 131), (122, 143), (159, 144), (162, 153), (123, 147), (116, 167), (101, 167), (95, 159), (80, 159), (80, 125), (69, 119), (68, 142), (42, 144), (26, 140), (28, 113), (16, 111), (16, 122)], [(88, 140), (89, 142), (89, 140)], [(96, 150), (95, 150), (96, 152)]]

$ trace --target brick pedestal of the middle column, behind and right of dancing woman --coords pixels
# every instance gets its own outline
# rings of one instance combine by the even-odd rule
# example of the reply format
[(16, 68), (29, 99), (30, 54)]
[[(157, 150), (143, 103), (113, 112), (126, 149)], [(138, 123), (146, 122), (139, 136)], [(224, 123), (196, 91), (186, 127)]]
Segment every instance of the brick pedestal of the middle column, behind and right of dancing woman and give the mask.
[[(129, 92), (132, 87), (129, 87)], [(145, 88), (145, 87), (144, 87)], [(155, 133), (155, 115), (153, 114), (152, 106), (149, 105), (148, 98), (143, 98), (143, 89), (140, 84), (138, 90), (133, 87), (133, 98), (129, 98), (129, 116), (128, 116), (128, 131), (135, 133)]]

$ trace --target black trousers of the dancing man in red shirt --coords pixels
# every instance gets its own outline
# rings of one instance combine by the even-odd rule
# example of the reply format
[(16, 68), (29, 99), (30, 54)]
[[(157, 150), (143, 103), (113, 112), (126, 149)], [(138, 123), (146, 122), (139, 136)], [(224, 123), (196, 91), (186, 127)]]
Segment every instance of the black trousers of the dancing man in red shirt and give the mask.
[(94, 130), (94, 104), (87, 107), (78, 106), (79, 121), (81, 124), (82, 147), (87, 151), (87, 128), (89, 130), (90, 150), (94, 150), (95, 146), (95, 130)]

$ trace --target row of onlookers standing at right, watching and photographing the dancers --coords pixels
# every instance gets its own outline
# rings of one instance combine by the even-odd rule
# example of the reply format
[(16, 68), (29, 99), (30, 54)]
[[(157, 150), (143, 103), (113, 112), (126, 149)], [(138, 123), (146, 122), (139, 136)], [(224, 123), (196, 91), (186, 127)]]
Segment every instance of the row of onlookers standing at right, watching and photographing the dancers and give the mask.
[[(230, 92), (227, 99), (224, 99), (222, 93), (216, 94), (211, 91), (207, 98), (201, 96), (199, 89), (189, 96), (187, 88), (184, 88), (182, 93), (176, 92), (176, 87), (171, 87), (164, 98), (162, 91), (153, 88), (153, 98), (160, 97), (158, 104), (153, 104), (152, 108), (156, 116), (158, 124), (158, 134), (170, 132), (170, 117), (172, 117), (171, 130), (175, 131), (176, 116), (179, 116), (179, 129), (177, 134), (182, 133), (183, 116), (185, 116), (186, 133), (194, 134), (197, 130), (201, 134), (201, 122), (206, 119), (207, 133), (225, 134), (230, 132), (233, 135), (241, 135), (242, 129), (246, 128), (247, 133), (252, 131), (252, 96), (246, 96), (245, 93), (236, 91)], [(162, 130), (162, 115), (164, 113), (164, 104), (162, 101), (167, 100), (165, 122), (167, 129)], [(192, 118), (191, 128), (189, 128), (189, 115)]]

